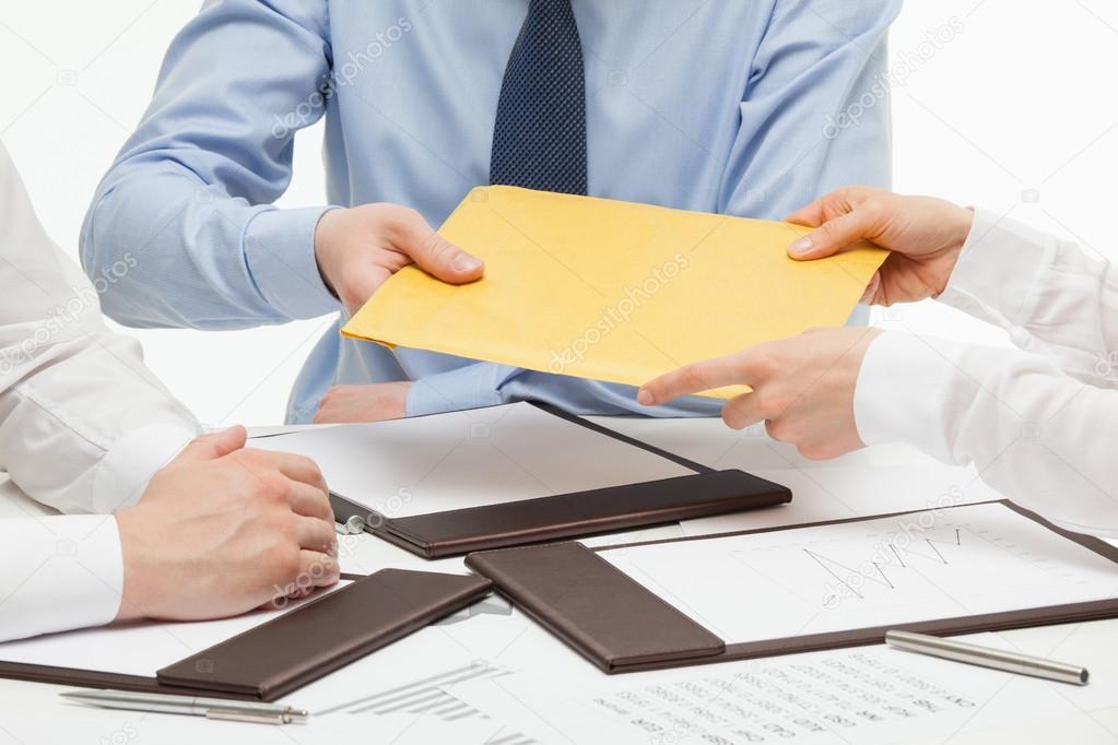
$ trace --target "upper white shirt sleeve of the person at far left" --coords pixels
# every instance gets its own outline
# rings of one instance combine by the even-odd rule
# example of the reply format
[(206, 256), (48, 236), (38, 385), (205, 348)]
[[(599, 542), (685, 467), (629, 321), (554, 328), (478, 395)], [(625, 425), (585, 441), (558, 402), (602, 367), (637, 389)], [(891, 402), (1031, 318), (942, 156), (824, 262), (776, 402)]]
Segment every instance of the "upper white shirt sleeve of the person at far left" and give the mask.
[(134, 504), (198, 433), (136, 341), (102, 321), (97, 287), (127, 281), (129, 264), (95, 283), (82, 274), (0, 147), (0, 468), (64, 513)]

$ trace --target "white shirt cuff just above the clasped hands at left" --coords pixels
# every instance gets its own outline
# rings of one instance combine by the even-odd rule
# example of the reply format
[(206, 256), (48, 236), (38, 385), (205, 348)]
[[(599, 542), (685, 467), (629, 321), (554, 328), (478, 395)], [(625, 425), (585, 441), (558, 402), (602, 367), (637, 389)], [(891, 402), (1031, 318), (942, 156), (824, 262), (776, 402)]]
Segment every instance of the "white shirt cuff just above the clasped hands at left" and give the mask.
[(129, 432), (105, 453), (93, 481), (93, 510), (115, 513), (131, 507), (148, 481), (197, 437), (179, 424), (149, 424)]

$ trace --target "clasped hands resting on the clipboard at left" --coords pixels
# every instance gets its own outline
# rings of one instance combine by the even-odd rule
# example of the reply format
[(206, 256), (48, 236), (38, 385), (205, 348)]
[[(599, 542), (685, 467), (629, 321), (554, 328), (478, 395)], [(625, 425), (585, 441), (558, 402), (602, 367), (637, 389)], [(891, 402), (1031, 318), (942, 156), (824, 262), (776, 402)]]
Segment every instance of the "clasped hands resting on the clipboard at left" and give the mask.
[(309, 458), (245, 449), (245, 429), (199, 437), (116, 515), (119, 620), (214, 619), (338, 581), (326, 484)]

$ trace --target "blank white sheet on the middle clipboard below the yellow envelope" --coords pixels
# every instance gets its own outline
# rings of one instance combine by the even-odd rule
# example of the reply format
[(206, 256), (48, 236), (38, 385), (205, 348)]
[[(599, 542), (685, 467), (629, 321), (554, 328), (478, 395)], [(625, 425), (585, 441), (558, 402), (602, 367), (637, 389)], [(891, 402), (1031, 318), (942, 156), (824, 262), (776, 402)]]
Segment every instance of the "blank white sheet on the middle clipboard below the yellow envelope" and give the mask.
[(694, 471), (529, 403), (253, 439), (314, 458), (335, 493), (407, 517)]

